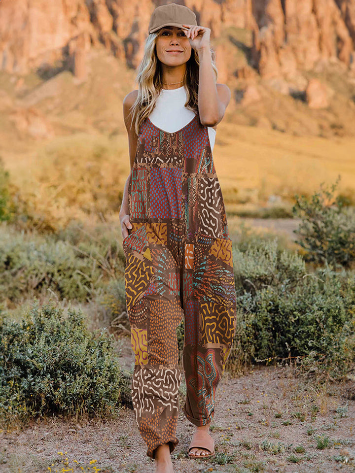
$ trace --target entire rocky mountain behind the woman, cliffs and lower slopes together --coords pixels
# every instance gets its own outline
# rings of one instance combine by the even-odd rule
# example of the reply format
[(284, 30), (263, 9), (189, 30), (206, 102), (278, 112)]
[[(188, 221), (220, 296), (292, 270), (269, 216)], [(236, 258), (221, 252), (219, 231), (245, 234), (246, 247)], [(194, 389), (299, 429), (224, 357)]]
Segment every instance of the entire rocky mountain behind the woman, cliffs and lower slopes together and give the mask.
[[(122, 100), (165, 2), (0, 0), (0, 141), (124, 131)], [(184, 3), (212, 30), (226, 121), (355, 135), (355, 0)]]

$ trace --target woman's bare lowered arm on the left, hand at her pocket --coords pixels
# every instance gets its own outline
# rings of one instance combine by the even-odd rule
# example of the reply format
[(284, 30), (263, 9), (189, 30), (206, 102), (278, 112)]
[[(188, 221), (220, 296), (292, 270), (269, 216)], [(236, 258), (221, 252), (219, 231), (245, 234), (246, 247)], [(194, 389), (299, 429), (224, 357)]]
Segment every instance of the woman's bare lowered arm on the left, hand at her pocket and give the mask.
[(129, 235), (128, 229), (132, 228), (132, 225), (129, 221), (130, 216), (129, 216), (129, 208), (128, 208), (128, 185), (131, 178), (132, 168), (133, 168), (133, 164), (134, 164), (134, 160), (136, 156), (138, 136), (136, 135), (134, 126), (131, 124), (131, 116), (129, 116), (129, 113), (130, 113), (131, 106), (136, 101), (137, 93), (138, 93), (138, 90), (134, 90), (130, 94), (126, 95), (126, 97), (123, 99), (123, 118), (124, 118), (126, 130), (128, 134), (128, 147), (129, 147), (131, 171), (125, 183), (121, 209), (119, 212), (122, 238), (125, 238), (126, 236), (128, 236)]

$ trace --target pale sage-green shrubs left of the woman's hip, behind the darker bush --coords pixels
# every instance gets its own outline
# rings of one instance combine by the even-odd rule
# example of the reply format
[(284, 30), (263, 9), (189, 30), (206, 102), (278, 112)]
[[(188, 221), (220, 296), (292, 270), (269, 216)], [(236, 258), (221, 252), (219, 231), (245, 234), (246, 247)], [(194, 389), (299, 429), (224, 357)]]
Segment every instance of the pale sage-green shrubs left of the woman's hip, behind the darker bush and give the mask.
[(69, 236), (24, 235), (0, 226), (0, 301), (16, 302), (48, 289), (62, 299), (92, 299), (107, 281), (122, 277), (119, 242), (105, 238), (81, 233), (72, 244)]

